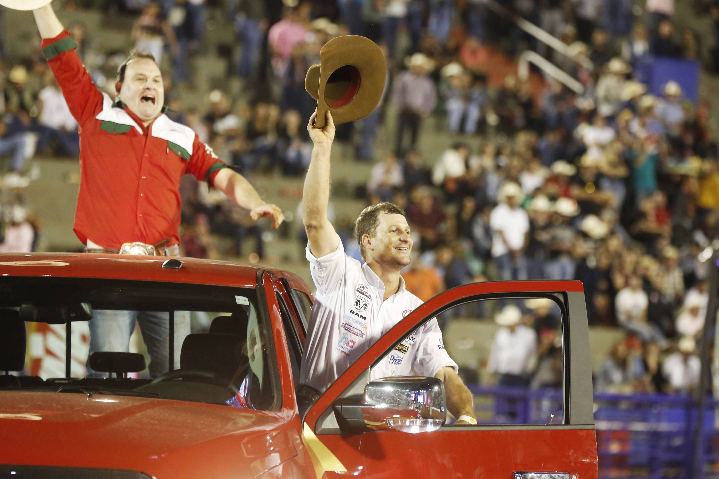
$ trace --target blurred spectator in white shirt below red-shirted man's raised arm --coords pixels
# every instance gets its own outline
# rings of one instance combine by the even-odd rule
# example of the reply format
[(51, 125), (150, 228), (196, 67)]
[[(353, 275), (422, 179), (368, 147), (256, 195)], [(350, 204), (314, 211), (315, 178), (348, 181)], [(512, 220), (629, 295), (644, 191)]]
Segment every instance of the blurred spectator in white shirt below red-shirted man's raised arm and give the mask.
[(37, 94), (40, 103), (40, 126), (37, 149), (42, 151), (56, 141), (63, 154), (80, 154), (78, 122), (73, 118), (57, 80), (49, 74), (47, 86)]

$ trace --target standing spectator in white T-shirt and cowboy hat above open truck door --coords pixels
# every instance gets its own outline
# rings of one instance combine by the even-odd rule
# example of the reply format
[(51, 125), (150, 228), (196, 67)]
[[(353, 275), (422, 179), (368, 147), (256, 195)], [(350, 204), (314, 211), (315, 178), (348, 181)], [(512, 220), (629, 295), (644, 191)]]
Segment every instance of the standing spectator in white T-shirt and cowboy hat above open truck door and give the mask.
[(529, 216), (521, 208), (522, 189), (508, 182), (499, 190), (500, 203), (490, 214), (492, 257), (500, 279), (527, 279), (524, 250), (529, 241)]

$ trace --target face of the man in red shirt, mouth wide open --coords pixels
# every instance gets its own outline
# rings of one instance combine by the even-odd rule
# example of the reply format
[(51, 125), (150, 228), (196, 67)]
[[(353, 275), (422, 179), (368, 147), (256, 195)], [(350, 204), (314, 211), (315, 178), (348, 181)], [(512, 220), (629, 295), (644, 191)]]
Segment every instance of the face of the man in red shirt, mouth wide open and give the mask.
[(130, 60), (118, 98), (145, 125), (160, 116), (165, 104), (165, 88), (157, 64), (150, 58)]

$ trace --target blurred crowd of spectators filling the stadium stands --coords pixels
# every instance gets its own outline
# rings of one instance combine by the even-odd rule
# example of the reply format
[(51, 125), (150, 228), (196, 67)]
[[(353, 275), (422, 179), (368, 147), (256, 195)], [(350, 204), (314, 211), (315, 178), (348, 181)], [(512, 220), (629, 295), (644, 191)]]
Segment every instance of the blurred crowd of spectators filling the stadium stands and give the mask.
[[(203, 75), (191, 68), (193, 60), (210, 53), (206, 1), (112, 0), (104, 8), (132, 19), (134, 46), (162, 65), (170, 116), (244, 175), (304, 174), (312, 147), (305, 122), (314, 108), (304, 90), (308, 67), (333, 37), (375, 40), (388, 60), (380, 106), (339, 126), (336, 140), (349, 145), (345, 151), (355, 161), (373, 164), (354, 195), (367, 203), (393, 201), (407, 212), (415, 238), (414, 261), (404, 273), (408, 289), (429, 299), (487, 279), (579, 279), (590, 323), (628, 334), (597, 378), (600, 387), (631, 383), (666, 391), (654, 379), (661, 373), (672, 389), (682, 389), (671, 379), (679, 373), (657, 369), (654, 351), (671, 370), (673, 351), (685, 358), (702, 333), (708, 300), (702, 255), (719, 222), (718, 151), (708, 131), (709, 101), (690, 101), (674, 80), (652, 95), (646, 66), (672, 57), (716, 70), (718, 55), (691, 25), (676, 24), (674, 0), (646, 0), (643, 8), (630, 0), (500, 3), (567, 49), (539, 42), (499, 15), (492, 1), (210, 3), (234, 27), (232, 48), (211, 53), (226, 58), (227, 79), (242, 82), (243, 93), (211, 90), (203, 93), (203, 108), (183, 108), (183, 96)], [(698, 4), (699, 14), (719, 25), (719, 6)], [(93, 80), (112, 93), (114, 69), (127, 52), (101, 50), (93, 40), (101, 33), (81, 23), (68, 29)], [(39, 37), (30, 57), (10, 58), (2, 49), (0, 43), (2, 185), (20, 192), (39, 175), (35, 154), (78, 154), (77, 124)], [(525, 50), (539, 52), (580, 87), (538, 73), (522, 78), (516, 69), (498, 78), (497, 59), (515, 65)], [(378, 135), (388, 125), (395, 129), (380, 147)], [(428, 129), (456, 141), (428, 157), (418, 148)], [(221, 256), (212, 239), (221, 235), (234, 239), (238, 256), (247, 256), (242, 246), (252, 238), (254, 259), (263, 259), (263, 231), (249, 218), (191, 179), (181, 194), (185, 254)], [(23, 215), (5, 210), (7, 232), (18, 223), (12, 218)], [(341, 215), (331, 219), (346, 251), (359, 257), (352, 223)], [(37, 243), (37, 225), (33, 231)], [(693, 367), (687, 361), (683, 367)], [(639, 362), (644, 372), (632, 372)]]

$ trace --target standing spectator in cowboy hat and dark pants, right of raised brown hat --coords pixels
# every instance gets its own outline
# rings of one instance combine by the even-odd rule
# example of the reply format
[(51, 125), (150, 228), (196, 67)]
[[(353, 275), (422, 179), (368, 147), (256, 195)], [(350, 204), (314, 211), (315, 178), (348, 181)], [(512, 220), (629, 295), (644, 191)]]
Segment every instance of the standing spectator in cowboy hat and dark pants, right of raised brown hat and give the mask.
[(408, 70), (398, 75), (392, 90), (392, 101), (399, 111), (395, 145), (398, 157), (406, 151), (405, 130), (409, 129), (409, 149), (413, 149), (423, 118), (429, 116), (437, 104), (437, 88), (428, 76), (434, 70), (434, 62), (422, 53), (415, 53), (407, 57), (405, 64)]

